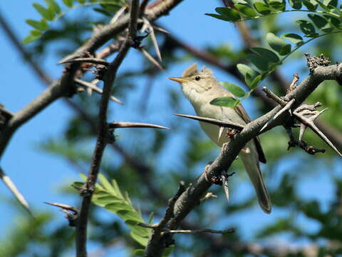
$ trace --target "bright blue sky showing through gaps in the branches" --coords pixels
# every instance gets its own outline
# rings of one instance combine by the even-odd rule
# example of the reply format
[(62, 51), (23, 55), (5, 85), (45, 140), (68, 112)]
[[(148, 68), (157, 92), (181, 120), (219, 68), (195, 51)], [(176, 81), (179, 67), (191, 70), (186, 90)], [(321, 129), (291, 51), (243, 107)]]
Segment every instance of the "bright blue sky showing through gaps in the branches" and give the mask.
[[(36, 2), (43, 4), (43, 1), (36, 0)], [(0, 1), (0, 11), (2, 15), (9, 21), (14, 32), (23, 39), (31, 29), (24, 20), (25, 19), (39, 19), (38, 14), (33, 9), (31, 0), (17, 0), (17, 1)], [(237, 31), (234, 29), (234, 25), (228, 24), (217, 19), (213, 19), (209, 16), (204, 16), (207, 12), (213, 12), (214, 8), (219, 6), (220, 1), (198, 1), (198, 0), (187, 0), (180, 4), (180, 8), (176, 8), (171, 12), (170, 16), (165, 16), (160, 19), (161, 24), (171, 29), (171, 32), (177, 36), (181, 36), (183, 40), (189, 42), (194, 46), (215, 46), (218, 42), (229, 40), (229, 44), (234, 47), (239, 47)], [(20, 7), (18, 7), (20, 6)], [(188, 10), (188, 11), (185, 11)], [(68, 15), (73, 15), (71, 12)], [(190, 17), (190, 19), (189, 19)], [(186, 21), (186, 22), (185, 22)], [(1, 54), (2, 59), (0, 63), (0, 103), (6, 106), (12, 112), (18, 111), (32, 101), (38, 94), (44, 89), (44, 85), (31, 71), (30, 66), (26, 64), (21, 56), (17, 53), (16, 49), (11, 45), (9, 40), (4, 35), (4, 32), (0, 30), (1, 36)], [(58, 49), (58, 44), (51, 46), (51, 53)], [(132, 66), (135, 61), (139, 61), (140, 57), (135, 51), (130, 51), (128, 59), (125, 60), (120, 70), (126, 69)], [(41, 65), (48, 71), (53, 79), (58, 79), (61, 76), (62, 66), (58, 66), (58, 58), (53, 54), (48, 54), (46, 59), (41, 60)], [(159, 76), (160, 79), (155, 81), (157, 84), (152, 90), (152, 98), (157, 99), (155, 106), (162, 104), (163, 99), (160, 97), (162, 91), (171, 89), (175, 86), (172, 81), (165, 79), (167, 76), (179, 76), (182, 71), (194, 60), (184, 62), (172, 66)], [(199, 62), (200, 65), (202, 63)], [(289, 69), (290, 70), (290, 69)], [(120, 71), (119, 71), (120, 72)], [(292, 73), (291, 73), (292, 74)], [(215, 71), (219, 81), (227, 81), (227, 76), (222, 72)], [(163, 79), (164, 78), (164, 79)], [(138, 91), (143, 90), (145, 81), (138, 81)], [(141, 92), (140, 92), (141, 93)], [(177, 110), (165, 110), (157, 111), (153, 110), (150, 106), (150, 113), (148, 116), (144, 116), (141, 120), (139, 114), (135, 112), (135, 102), (139, 101), (141, 94), (135, 94), (130, 98), (125, 99), (124, 106), (115, 106), (118, 111), (115, 111), (115, 116), (110, 119), (123, 120), (127, 118), (127, 114), (130, 114), (130, 121), (143, 121), (152, 122), (161, 125), (163, 124), (162, 116), (172, 113), (177, 113)], [(253, 106), (251, 101), (244, 103), (249, 114), (253, 114)], [(185, 111), (187, 114), (193, 114), (192, 107), (190, 104), (185, 104)], [(78, 174), (75, 172), (72, 166), (61, 158), (56, 156), (48, 155), (42, 151), (37, 150), (38, 144), (43, 138), (57, 138), (65, 129), (66, 121), (72, 115), (71, 110), (63, 104), (63, 101), (58, 100), (49, 106), (47, 109), (38, 114), (34, 119), (28, 121), (27, 124), (22, 126), (14, 135), (11, 142), (9, 143), (6, 153), (1, 159), (1, 166), (4, 171), (11, 176), (16, 186), (18, 186), (21, 193), (26, 196), (26, 199), (33, 207), (33, 210), (51, 210), (50, 206), (43, 204), (43, 201), (60, 201), (67, 203), (68, 198), (58, 193), (58, 186), (65, 183), (72, 183), (72, 181), (78, 180)], [(253, 115), (251, 115), (253, 116)], [(120, 132), (125, 133), (125, 132)], [(119, 143), (120, 138), (118, 139)], [(95, 143), (95, 138), (93, 142)], [(168, 161), (165, 160), (165, 165)], [(281, 172), (286, 172), (286, 165), (279, 166)], [(319, 183), (317, 183), (317, 178)], [(313, 180), (316, 179), (316, 180)], [(326, 173), (319, 173), (318, 176), (309, 178), (306, 183), (299, 187), (299, 190), (303, 193), (304, 197), (321, 198), (321, 200), (328, 200), (331, 195), (333, 188), (328, 188), (329, 176)], [(325, 188), (324, 193), (318, 193), (314, 189), (318, 186)], [(244, 191), (244, 187), (240, 188), (240, 191)], [(247, 191), (250, 190), (246, 189)], [(11, 194), (0, 183), (0, 209), (6, 209), (6, 212), (2, 212), (0, 219), (0, 228), (2, 231), (10, 229), (14, 226), (13, 217), (19, 214), (14, 208), (3, 201), (5, 198), (11, 197)], [(273, 217), (267, 216), (262, 213), (259, 208), (252, 211), (253, 219), (259, 220), (260, 223), (250, 224), (249, 226), (242, 226), (242, 231), (251, 233), (257, 231), (262, 225), (262, 222), (269, 222), (274, 217), (283, 215), (282, 211), (274, 210)], [(249, 215), (242, 215), (236, 217), (236, 221), (242, 222), (247, 221), (250, 218)], [(299, 219), (299, 221), (301, 221)], [(64, 222), (63, 215), (56, 213), (56, 223)], [(235, 221), (228, 221), (234, 223)], [(243, 222), (242, 222), (243, 223)], [(312, 225), (314, 228), (314, 225)], [(0, 238), (5, 236), (3, 233)], [(248, 238), (248, 236), (247, 236)]]

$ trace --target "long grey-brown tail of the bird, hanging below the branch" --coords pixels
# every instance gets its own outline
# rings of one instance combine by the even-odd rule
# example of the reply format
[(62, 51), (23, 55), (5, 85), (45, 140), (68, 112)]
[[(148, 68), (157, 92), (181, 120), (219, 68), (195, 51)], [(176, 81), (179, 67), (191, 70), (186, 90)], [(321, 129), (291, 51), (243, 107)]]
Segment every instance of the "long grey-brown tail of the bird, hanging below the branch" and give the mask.
[(253, 141), (249, 141), (249, 143), (247, 143), (239, 156), (244, 163), (244, 168), (246, 168), (249, 179), (253, 183), (261, 209), (265, 213), (271, 213), (271, 199), (269, 198), (269, 192), (267, 191), (264, 178), (259, 167), (257, 148), (254, 146)]

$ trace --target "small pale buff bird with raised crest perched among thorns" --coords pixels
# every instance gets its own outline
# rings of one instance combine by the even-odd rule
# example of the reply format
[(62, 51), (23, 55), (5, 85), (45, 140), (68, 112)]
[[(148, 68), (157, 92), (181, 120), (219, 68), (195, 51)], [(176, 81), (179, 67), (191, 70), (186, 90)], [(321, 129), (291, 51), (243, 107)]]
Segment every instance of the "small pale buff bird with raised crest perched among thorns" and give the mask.
[[(219, 86), (217, 79), (212, 74), (212, 70), (205, 67), (202, 68), (202, 71), (197, 71), (197, 64), (195, 63), (185, 69), (181, 77), (170, 77), (168, 79), (181, 84), (183, 93), (189, 99), (198, 116), (232, 121), (242, 125), (248, 124), (251, 119), (241, 104), (238, 104), (234, 109), (209, 104), (210, 101), (220, 96), (235, 98), (233, 94)], [(220, 132), (219, 126), (201, 121), (199, 124), (207, 136), (218, 146), (229, 141), (228, 129)], [(259, 167), (259, 161), (266, 163), (259, 138), (249, 141), (242, 148), (239, 156), (253, 183), (261, 209), (266, 213), (271, 213), (271, 200)]]

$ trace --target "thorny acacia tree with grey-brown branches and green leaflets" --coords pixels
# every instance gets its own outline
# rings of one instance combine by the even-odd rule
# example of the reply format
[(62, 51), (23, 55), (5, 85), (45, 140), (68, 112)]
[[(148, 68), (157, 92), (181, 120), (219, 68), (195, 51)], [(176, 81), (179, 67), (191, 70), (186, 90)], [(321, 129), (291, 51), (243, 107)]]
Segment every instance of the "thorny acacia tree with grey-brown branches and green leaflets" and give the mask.
[[(223, 183), (226, 190), (229, 187), (230, 191), (234, 192), (237, 183), (234, 181), (236, 176), (232, 176), (227, 182), (225, 171), (242, 169), (239, 163), (234, 162), (232, 165), (233, 161), (244, 144), (255, 136), (264, 135), (262, 142), (269, 159), (268, 167), (266, 167), (268, 171), (276, 168), (289, 156), (294, 160), (310, 160), (311, 165), (298, 164), (299, 167), (306, 165), (308, 170), (316, 166), (318, 162), (331, 162), (336, 156), (341, 156), (338, 151), (338, 148), (342, 146), (342, 134), (338, 132), (342, 122), (338, 119), (338, 110), (341, 109), (341, 105), (338, 98), (337, 100), (331, 99), (336, 99), (336, 96), (341, 94), (342, 67), (340, 64), (330, 64), (328, 60), (328, 57), (333, 59), (334, 46), (341, 41), (338, 37), (338, 33), (341, 32), (341, 10), (338, 1), (217, 1), (217, 5), (220, 6), (215, 9), (216, 14), (208, 10), (207, 16), (223, 20), (222, 22), (235, 23), (244, 42), (244, 48), (238, 51), (232, 51), (224, 45), (196, 49), (158, 24), (157, 19), (160, 16), (169, 13), (172, 16), (172, 9), (182, 8), (179, 5), (181, 0), (157, 0), (151, 3), (138, 0), (131, 2), (78, 1), (80, 8), (93, 6), (94, 11), (104, 16), (100, 22), (96, 21), (93, 34), (86, 41), (81, 41), (78, 36), (74, 37), (73, 40), (79, 46), (73, 49), (72, 53), (63, 56), (60, 63), (65, 65), (65, 70), (57, 81), (47, 79), (46, 72), (38, 66), (31, 54), (38, 52), (43, 54), (48, 44), (67, 36), (73, 24), (63, 21), (61, 17), (65, 16), (68, 9), (74, 8), (76, 2), (63, 1), (63, 7), (57, 1), (45, 2), (46, 6), (41, 3), (33, 4), (33, 7), (41, 14), (41, 20), (28, 19), (26, 21), (34, 28), (23, 41), (25, 44), (34, 41), (31, 49), (24, 49), (12, 34), (6, 21), (1, 19), (1, 25), (8, 36), (48, 87), (28, 106), (16, 113), (1, 107), (0, 153), (4, 153), (16, 129), (26, 121), (30, 121), (43, 109), (48, 108), (54, 101), (63, 98), (77, 113), (70, 121), (64, 135), (64, 141), (68, 143), (51, 139), (43, 142), (42, 148), (63, 156), (72, 163), (82, 163), (82, 166), (88, 167), (88, 171), (84, 172), (83, 181), (73, 184), (76, 188), (73, 193), (76, 195), (78, 191), (80, 203), (49, 203), (67, 213), (69, 225), (75, 227), (74, 230), (64, 223), (46, 235), (49, 240), (44, 241), (41, 238), (46, 233), (44, 226), (48, 221), (44, 216), (37, 216), (37, 213), (34, 223), (27, 221), (27, 226), (12, 236), (13, 240), (21, 238), (20, 242), (24, 241), (24, 247), (16, 244), (9, 245), (4, 241), (1, 254), (16, 256), (34, 251), (37, 256), (43, 256), (46, 253), (39, 253), (28, 246), (30, 243), (45, 243), (49, 246), (48, 252), (51, 256), (62, 256), (68, 251), (68, 247), (76, 247), (76, 256), (87, 256), (87, 238), (89, 238), (87, 228), (90, 225), (95, 228), (91, 234), (91, 241), (101, 243), (103, 248), (110, 248), (118, 241), (123, 241), (133, 255), (166, 256), (172, 251), (175, 254), (190, 253), (195, 256), (226, 256), (227, 253), (232, 256), (243, 256), (249, 253), (291, 256), (294, 253), (299, 255), (306, 253), (304, 247), (294, 251), (286, 244), (284, 246), (260, 244), (255, 247), (243, 240), (239, 234), (239, 227), (234, 229), (224, 226), (222, 228), (222, 223), (207, 221), (206, 217), (208, 209), (211, 210), (215, 206), (217, 207), (215, 215), (229, 219), (234, 216), (234, 213), (248, 210), (255, 202), (255, 196), (251, 195), (247, 200), (227, 203), (223, 198), (214, 197), (222, 195), (222, 190), (220, 190), (222, 187), (212, 187), (214, 183), (219, 185)], [(292, 21), (293, 24), (299, 26), (300, 32), (292, 27), (292, 24), (287, 27), (277, 22), (280, 14), (295, 11), (304, 13), (301, 19)], [(307, 18), (306, 12), (309, 12)], [(51, 29), (53, 22), (61, 22), (63, 27), (59, 30)], [(77, 22), (81, 23), (81, 21)], [(80, 28), (81, 31), (86, 31), (86, 29)], [(281, 34), (283, 35), (280, 36)], [(318, 41), (318, 38), (322, 38), (319, 39), (321, 41)], [(311, 54), (323, 52), (324, 55), (316, 54), (317, 57), (311, 57), (307, 54), (305, 63), (303, 55), (296, 56), (296, 53), (311, 41), (316, 43), (316, 48), (309, 49)], [(140, 67), (138, 71), (125, 71), (120, 74), (118, 69), (125, 62), (130, 49), (140, 51), (141, 56), (146, 59), (146, 65)], [(206, 139), (199, 136), (197, 127), (193, 124), (190, 128), (187, 127), (186, 124), (191, 121), (181, 121), (170, 117), (172, 131), (184, 133), (185, 141), (188, 141), (189, 145), (182, 150), (182, 158), (178, 160), (182, 163), (180, 170), (170, 168), (161, 172), (157, 160), (160, 154), (167, 152), (166, 144), (172, 137), (172, 131), (157, 130), (167, 128), (154, 124), (129, 121), (110, 122), (108, 121), (108, 111), (110, 111), (108, 106), (111, 101), (121, 103), (117, 95), (129, 94), (130, 81), (135, 81), (140, 76), (148, 76), (152, 83), (152, 80), (159, 78), (163, 67), (170, 67), (180, 61), (175, 54), (178, 49), (181, 49), (183, 54), (190, 54), (196, 59), (221, 69), (245, 86), (244, 90), (232, 83), (222, 83), (238, 97), (238, 100), (228, 97), (219, 98), (214, 99), (212, 104), (234, 107), (247, 97), (254, 97), (260, 106), (259, 118), (246, 126), (237, 126), (227, 121), (182, 115), (236, 130), (233, 140), (222, 147), (218, 156), (214, 156), (214, 150), (208, 146)], [(152, 52), (155, 52), (155, 56), (150, 54)], [(110, 56), (114, 56), (113, 61), (108, 61)], [(306, 70), (300, 76), (296, 74), (292, 78), (293, 74), (289, 74), (286, 69), (281, 71), (280, 69), (286, 66), (286, 61), (289, 59), (292, 59), (292, 62), (300, 60), (303, 67), (307, 64), (309, 75)], [(336, 61), (339, 60), (336, 59)], [(92, 76), (88, 76), (89, 71)], [(101, 81), (103, 81), (102, 88)], [(119, 84), (120, 86), (115, 86)], [(93, 97), (82, 95), (83, 91), (87, 91), (90, 96), (95, 93), (100, 94), (100, 103)], [(147, 86), (144, 91), (144, 99), (147, 99), (150, 86)], [(331, 96), (332, 92), (335, 92), (335, 96)], [(168, 94), (172, 111), (175, 110), (175, 106), (180, 105), (179, 93), (179, 91), (173, 91)], [(71, 96), (73, 99), (70, 99)], [(306, 100), (309, 104), (304, 104)], [(332, 110), (328, 118), (316, 121), (325, 110), (317, 110), (322, 105), (318, 101), (323, 102), (324, 106), (329, 106)], [(146, 104), (145, 101), (142, 106), (144, 104)], [(276, 126), (283, 126), (285, 130), (271, 131)], [(299, 139), (296, 139), (293, 133), (297, 126), (300, 127)], [(150, 128), (153, 131), (131, 132), (135, 138), (140, 137), (135, 139), (135, 146), (127, 147), (118, 144), (115, 135), (120, 136), (120, 133), (117, 130), (132, 127)], [(307, 127), (314, 132), (306, 135), (304, 141), (304, 131)], [(79, 148), (81, 143), (94, 136), (97, 137), (95, 149), (81, 152)], [(144, 136), (149, 138), (149, 143), (144, 141)], [(284, 144), (287, 136), (289, 136), (288, 145)], [(323, 149), (326, 144), (332, 151)], [(286, 148), (294, 146), (299, 146), (299, 149), (291, 149), (287, 152), (289, 149), (286, 150)], [(123, 161), (103, 165), (105, 148), (111, 148), (116, 153), (115, 156), (120, 156)], [(142, 156), (141, 153), (144, 158), (139, 157)], [(304, 156), (304, 153), (314, 156)], [(214, 161), (206, 165), (206, 162), (210, 160), (208, 156)], [(196, 178), (195, 171), (198, 173), (201, 166), (202, 174)], [(28, 203), (11, 183), (9, 176), (6, 176), (2, 169), (0, 171), (4, 183), (14, 191), (16, 198), (28, 209)], [(317, 255), (318, 253), (339, 253), (341, 248), (339, 236), (341, 228), (338, 226), (341, 223), (339, 211), (341, 178), (338, 173), (331, 173), (331, 176), (336, 195), (329, 204), (328, 210), (323, 211), (318, 201), (303, 200), (296, 192), (296, 183), (299, 184), (301, 181), (301, 176), (296, 173), (296, 170), (289, 169), (289, 173), (281, 174), (281, 179), (271, 189), (271, 198), (275, 207), (287, 209), (287, 215), (285, 218), (274, 218), (274, 223), (265, 225), (257, 237), (269, 238), (274, 234), (288, 231), (294, 238), (309, 240), (311, 251), (315, 251)], [(176, 189), (177, 183), (179, 183), (178, 189)], [(123, 191), (127, 191), (130, 196)], [(170, 200), (167, 201), (169, 198)], [(91, 202), (100, 206), (100, 209), (115, 213), (117, 216), (113, 216), (113, 220), (109, 223), (102, 221), (94, 211), (96, 208)], [(138, 204), (140, 208), (136, 207)], [(293, 218), (296, 213), (302, 213), (306, 218), (318, 222), (321, 228), (312, 233), (305, 228), (298, 227)], [(212, 229), (214, 226), (219, 226), (220, 229)], [(28, 231), (36, 236), (27, 238), (25, 235)], [(197, 235), (185, 235), (187, 243), (183, 243), (174, 238), (175, 233), (196, 233)], [(214, 236), (214, 233), (221, 233), (222, 236)], [(115, 238), (119, 238), (118, 241), (115, 241)], [(324, 243), (316, 246), (315, 243), (322, 238)], [(71, 239), (74, 239), (75, 243), (71, 243)], [(68, 247), (61, 250), (61, 243)]]

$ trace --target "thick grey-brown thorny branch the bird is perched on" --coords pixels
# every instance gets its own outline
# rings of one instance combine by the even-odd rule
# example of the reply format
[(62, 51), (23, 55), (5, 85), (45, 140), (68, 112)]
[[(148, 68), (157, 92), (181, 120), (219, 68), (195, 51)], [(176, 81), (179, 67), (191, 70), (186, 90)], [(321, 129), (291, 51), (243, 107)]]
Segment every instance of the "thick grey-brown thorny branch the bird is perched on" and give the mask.
[[(311, 74), (301, 82), (299, 86), (293, 91), (286, 94), (285, 100), (295, 99), (294, 108), (298, 107), (324, 80), (335, 80), (342, 78), (342, 64), (318, 67), (311, 72)], [(249, 124), (247, 124), (244, 129), (235, 136), (234, 140), (225, 143), (222, 146), (221, 153), (214, 160), (212, 164), (204, 169), (204, 172), (197, 178), (197, 181), (192, 183), (187, 190), (182, 193), (180, 198), (177, 199), (174, 207), (174, 217), (170, 219), (165, 225), (165, 228), (169, 230), (175, 230), (182, 220), (187, 216), (190, 211), (192, 211), (195, 206), (200, 201), (200, 198), (204, 193), (212, 186), (211, 183), (206, 179), (213, 177), (219, 177), (222, 171), (227, 171), (227, 169), (232, 165), (239, 151), (245, 146), (245, 144), (252, 140), (252, 138), (259, 136), (260, 130), (268, 121), (273, 119), (273, 117), (281, 110), (281, 106), (276, 106), (269, 113), (261, 116)], [(273, 119), (264, 131), (267, 131), (275, 126), (282, 125), (290, 119), (289, 113), (284, 113)], [(263, 133), (264, 133), (263, 131)], [(154, 230), (155, 231), (155, 230)], [(163, 236), (151, 236), (147, 244), (145, 256), (161, 256), (164, 248), (163, 244), (165, 238)]]

